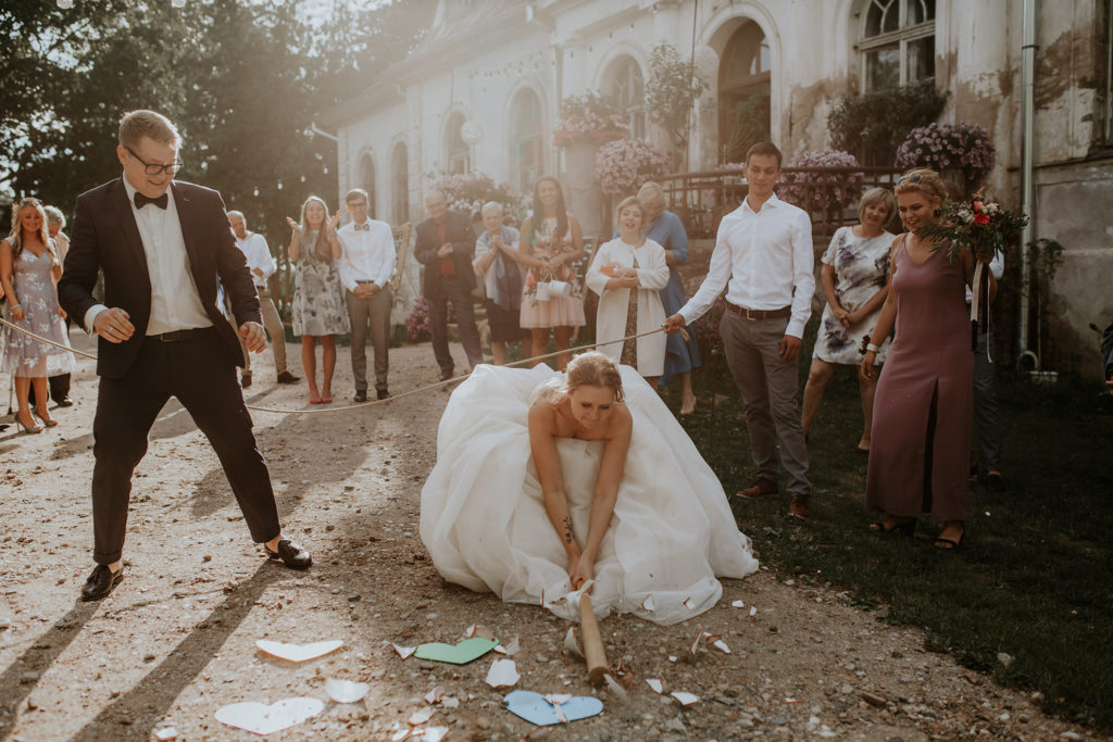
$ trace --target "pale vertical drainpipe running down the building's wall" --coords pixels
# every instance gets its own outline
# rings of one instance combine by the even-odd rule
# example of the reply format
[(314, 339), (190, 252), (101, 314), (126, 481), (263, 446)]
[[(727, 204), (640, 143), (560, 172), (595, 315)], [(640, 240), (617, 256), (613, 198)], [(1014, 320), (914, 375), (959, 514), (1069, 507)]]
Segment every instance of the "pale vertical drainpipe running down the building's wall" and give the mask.
[(1016, 333), (1016, 363), (1025, 358), (1040, 370), (1040, 356), (1028, 349), (1028, 311), (1031, 306), (1032, 280), (1028, 244), (1035, 234), (1035, 198), (1033, 179), (1033, 123), (1035, 118), (1035, 58), (1036, 58), (1036, 0), (1024, 0), (1023, 46), (1021, 47), (1021, 209), (1028, 215), (1028, 222), (1021, 233), (1021, 317)]

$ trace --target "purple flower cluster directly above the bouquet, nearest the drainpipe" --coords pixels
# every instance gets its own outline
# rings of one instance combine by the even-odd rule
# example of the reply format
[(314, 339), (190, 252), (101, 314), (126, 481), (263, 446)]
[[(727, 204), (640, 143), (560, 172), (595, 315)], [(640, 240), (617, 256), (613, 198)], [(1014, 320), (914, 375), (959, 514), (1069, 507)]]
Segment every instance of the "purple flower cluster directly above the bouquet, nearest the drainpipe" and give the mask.
[(977, 123), (929, 123), (913, 129), (897, 149), (896, 167), (932, 168), (944, 174), (947, 170), (962, 172), (967, 194), (993, 169), (997, 149), (989, 139), (989, 132)]

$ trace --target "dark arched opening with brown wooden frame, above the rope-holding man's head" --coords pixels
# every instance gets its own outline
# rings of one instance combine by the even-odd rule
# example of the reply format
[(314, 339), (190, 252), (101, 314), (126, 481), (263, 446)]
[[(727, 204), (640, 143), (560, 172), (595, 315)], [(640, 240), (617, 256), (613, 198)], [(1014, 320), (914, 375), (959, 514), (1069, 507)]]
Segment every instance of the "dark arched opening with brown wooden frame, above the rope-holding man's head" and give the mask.
[(770, 66), (765, 31), (742, 22), (719, 63), (719, 145), (728, 162), (741, 161), (751, 145), (769, 139)]

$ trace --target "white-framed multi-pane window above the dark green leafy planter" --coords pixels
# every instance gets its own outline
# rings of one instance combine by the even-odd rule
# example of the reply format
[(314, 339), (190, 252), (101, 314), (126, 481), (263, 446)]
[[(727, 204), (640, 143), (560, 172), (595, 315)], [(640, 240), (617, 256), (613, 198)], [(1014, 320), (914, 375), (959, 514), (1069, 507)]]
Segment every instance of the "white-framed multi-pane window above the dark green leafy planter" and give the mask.
[(869, 0), (861, 87), (883, 90), (935, 77), (935, 0)]

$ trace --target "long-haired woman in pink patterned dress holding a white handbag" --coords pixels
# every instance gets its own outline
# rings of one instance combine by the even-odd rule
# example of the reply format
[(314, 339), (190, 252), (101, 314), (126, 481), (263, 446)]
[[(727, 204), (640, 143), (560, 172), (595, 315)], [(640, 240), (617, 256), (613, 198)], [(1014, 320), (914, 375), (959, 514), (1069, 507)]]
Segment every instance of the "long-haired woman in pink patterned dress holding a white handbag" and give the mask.
[[(568, 350), (573, 327), (582, 327), (582, 288), (575, 280), (575, 261), (583, 257), (580, 222), (564, 206), (564, 194), (556, 178), (545, 176), (533, 188), (533, 212), (522, 224), (518, 248), (522, 265), (529, 267), (522, 290), (521, 325), (533, 335), (533, 356), (549, 353), (552, 330), (556, 350)], [(562, 281), (570, 286), (568, 296), (539, 298), (538, 284)], [(571, 353), (556, 356), (556, 366), (568, 366)]]

